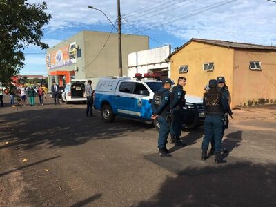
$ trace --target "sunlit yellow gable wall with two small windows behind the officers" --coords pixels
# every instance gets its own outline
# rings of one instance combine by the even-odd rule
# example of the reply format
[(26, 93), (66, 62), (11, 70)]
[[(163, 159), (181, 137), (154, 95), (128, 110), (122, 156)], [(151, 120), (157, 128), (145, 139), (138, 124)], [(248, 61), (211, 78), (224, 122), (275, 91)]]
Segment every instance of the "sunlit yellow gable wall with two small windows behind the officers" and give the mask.
[[(224, 76), (226, 78), (226, 85), (232, 94), (233, 59), (234, 50), (231, 48), (192, 41), (170, 58), (170, 78), (177, 81), (180, 76), (186, 77), (186, 93), (202, 97), (204, 94), (203, 88), (210, 79)], [(213, 62), (215, 68), (211, 72), (206, 72), (203, 70), (203, 63), (209, 62)], [(182, 65), (188, 65), (188, 72), (179, 74), (179, 66)]]

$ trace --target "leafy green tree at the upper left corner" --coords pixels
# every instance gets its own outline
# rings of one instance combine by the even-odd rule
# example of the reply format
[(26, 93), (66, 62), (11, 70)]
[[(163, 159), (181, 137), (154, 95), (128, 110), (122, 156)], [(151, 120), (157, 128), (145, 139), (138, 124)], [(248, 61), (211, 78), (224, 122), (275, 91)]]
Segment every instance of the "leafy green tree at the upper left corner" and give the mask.
[(0, 0), (0, 83), (9, 86), (11, 77), (24, 66), (23, 50), (30, 45), (48, 48), (41, 41), (43, 26), (51, 19), (45, 2)]

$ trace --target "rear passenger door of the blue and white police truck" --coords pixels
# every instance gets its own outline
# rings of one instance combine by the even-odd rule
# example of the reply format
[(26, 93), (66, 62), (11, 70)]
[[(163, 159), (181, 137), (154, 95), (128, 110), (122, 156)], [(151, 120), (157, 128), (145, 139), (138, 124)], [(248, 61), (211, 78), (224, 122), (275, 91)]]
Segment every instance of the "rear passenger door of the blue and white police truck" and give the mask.
[(140, 116), (139, 111), (135, 111), (135, 95), (133, 94), (135, 82), (121, 81), (119, 88), (115, 95), (115, 103), (117, 105), (117, 112), (124, 116)]

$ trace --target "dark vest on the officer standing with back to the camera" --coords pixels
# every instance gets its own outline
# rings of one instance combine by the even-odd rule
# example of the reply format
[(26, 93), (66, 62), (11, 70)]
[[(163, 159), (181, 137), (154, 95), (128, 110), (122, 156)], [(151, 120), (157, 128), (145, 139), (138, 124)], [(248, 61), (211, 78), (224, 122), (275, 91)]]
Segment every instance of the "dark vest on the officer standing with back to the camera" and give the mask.
[(209, 90), (204, 93), (204, 102), (206, 105), (207, 114), (218, 114), (223, 113), (223, 107), (221, 103), (221, 92), (217, 90)]

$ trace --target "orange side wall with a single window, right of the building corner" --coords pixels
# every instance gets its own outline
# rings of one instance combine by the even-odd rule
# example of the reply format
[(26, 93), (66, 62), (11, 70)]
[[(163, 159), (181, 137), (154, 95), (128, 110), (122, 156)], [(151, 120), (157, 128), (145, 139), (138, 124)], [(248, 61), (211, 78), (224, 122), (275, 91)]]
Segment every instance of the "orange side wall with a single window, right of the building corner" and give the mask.
[[(276, 100), (276, 52), (235, 50), (234, 61), (234, 106), (258, 99)], [(262, 70), (250, 70), (249, 61), (261, 61)]]

